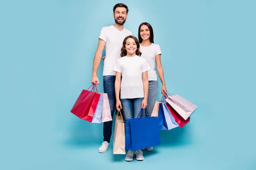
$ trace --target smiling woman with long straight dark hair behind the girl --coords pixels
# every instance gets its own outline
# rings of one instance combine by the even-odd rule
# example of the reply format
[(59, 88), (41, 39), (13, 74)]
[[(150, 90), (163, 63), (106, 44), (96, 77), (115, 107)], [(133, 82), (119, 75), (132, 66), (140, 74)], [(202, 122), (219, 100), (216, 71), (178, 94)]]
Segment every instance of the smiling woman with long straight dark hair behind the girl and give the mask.
[[(148, 114), (151, 116), (151, 113), (154, 108), (154, 104), (157, 100), (157, 91), (158, 91), (158, 83), (157, 83), (157, 74), (154, 70), (155, 62), (157, 65), (157, 73), (162, 82), (161, 93), (167, 92), (164, 76), (163, 76), (163, 67), (161, 64), (161, 54), (160, 46), (154, 44), (154, 34), (153, 28), (149, 23), (141, 23), (139, 26), (138, 37), (140, 42), (140, 51), (142, 52), (141, 57), (145, 58), (150, 66), (150, 70), (148, 71)], [(153, 147), (146, 148), (146, 150), (151, 151)]]

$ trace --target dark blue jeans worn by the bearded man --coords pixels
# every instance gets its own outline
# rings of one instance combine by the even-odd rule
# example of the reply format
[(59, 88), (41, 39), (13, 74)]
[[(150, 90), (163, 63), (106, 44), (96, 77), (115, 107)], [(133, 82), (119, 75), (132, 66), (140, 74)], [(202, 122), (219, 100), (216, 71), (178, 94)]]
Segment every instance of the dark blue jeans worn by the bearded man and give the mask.
[[(115, 93), (115, 80), (116, 76), (103, 76), (104, 93), (108, 94), (111, 116), (113, 119), (114, 112), (116, 111), (116, 93)], [(113, 121), (103, 123), (103, 136), (104, 141), (110, 142), (112, 134)]]

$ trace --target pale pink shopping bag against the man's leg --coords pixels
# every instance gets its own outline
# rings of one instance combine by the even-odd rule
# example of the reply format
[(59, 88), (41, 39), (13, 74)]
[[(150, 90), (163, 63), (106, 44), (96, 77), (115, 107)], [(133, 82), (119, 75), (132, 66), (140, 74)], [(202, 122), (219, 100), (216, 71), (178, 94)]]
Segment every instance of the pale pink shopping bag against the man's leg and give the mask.
[(103, 95), (103, 103), (102, 103), (102, 116), (101, 116), (101, 122), (108, 122), (112, 120), (111, 116), (111, 110), (108, 100), (108, 94), (106, 93), (99, 93)]

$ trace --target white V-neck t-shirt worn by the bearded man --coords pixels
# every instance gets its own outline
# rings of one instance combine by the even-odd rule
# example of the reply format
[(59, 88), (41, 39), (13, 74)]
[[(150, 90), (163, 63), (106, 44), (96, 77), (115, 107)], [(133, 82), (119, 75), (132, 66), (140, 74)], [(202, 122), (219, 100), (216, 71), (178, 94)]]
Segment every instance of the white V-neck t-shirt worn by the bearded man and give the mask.
[(119, 31), (114, 26), (103, 27), (100, 31), (99, 38), (106, 42), (106, 58), (103, 66), (103, 76), (115, 76), (116, 72), (113, 68), (116, 60), (121, 57), (122, 42), (125, 37), (132, 35), (132, 32), (126, 28)]

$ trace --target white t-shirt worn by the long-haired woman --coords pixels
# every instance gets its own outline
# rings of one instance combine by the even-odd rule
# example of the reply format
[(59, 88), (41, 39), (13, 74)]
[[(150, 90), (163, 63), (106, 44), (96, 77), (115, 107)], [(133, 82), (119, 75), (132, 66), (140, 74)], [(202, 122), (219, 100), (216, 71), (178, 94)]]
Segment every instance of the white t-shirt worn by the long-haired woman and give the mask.
[(150, 65), (150, 70), (148, 71), (148, 81), (156, 81), (157, 73), (155, 71), (155, 60), (158, 54), (162, 54), (160, 46), (158, 44), (152, 43), (151, 45), (144, 47), (140, 45), (141, 57), (145, 58)]

